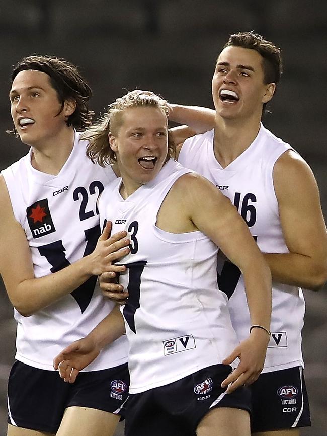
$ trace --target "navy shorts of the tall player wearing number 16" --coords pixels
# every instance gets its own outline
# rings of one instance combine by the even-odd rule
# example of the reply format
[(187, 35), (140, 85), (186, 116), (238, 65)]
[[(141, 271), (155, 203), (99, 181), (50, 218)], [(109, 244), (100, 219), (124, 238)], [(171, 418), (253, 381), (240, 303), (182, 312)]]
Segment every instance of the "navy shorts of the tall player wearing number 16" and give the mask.
[(311, 425), (302, 367), (261, 374), (250, 388), (252, 432)]

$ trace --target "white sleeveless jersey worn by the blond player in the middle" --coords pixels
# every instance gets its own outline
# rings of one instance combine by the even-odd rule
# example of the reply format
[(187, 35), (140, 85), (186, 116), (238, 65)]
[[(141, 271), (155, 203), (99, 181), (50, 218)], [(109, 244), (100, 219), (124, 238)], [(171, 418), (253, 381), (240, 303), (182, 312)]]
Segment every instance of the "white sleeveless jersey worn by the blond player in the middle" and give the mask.
[(174, 182), (189, 172), (170, 160), (126, 200), (121, 179), (99, 200), (100, 222), (112, 221), (113, 232), (125, 229), (131, 238), (120, 281), (129, 292), (122, 313), (132, 394), (219, 364), (238, 343), (217, 286), (217, 246), (200, 231), (173, 234), (155, 225)]

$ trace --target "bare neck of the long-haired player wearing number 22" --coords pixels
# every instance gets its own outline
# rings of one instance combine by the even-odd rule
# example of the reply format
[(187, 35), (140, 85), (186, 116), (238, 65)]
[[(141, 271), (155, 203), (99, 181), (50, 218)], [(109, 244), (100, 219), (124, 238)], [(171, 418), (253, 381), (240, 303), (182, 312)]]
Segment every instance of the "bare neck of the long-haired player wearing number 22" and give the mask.
[(42, 173), (59, 174), (67, 161), (74, 145), (74, 130), (69, 127), (56, 134), (46, 144), (33, 146), (31, 164)]

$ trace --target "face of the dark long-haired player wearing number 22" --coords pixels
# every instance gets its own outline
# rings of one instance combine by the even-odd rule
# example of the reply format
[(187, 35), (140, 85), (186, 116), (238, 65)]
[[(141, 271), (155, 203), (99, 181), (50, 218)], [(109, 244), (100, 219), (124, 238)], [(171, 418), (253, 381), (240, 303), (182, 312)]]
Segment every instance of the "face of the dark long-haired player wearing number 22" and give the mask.
[[(15, 77), (9, 94), (11, 115), (22, 142), (42, 147), (63, 129), (66, 117), (74, 111), (65, 103), (63, 110), (50, 78), (45, 72), (23, 70)], [(59, 113), (59, 114), (58, 114)]]

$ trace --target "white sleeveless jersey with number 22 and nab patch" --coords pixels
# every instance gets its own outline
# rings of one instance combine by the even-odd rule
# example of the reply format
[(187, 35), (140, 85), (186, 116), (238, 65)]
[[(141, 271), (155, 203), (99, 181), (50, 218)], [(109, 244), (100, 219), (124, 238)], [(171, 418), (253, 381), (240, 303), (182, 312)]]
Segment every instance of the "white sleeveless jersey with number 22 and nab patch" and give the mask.
[[(57, 176), (32, 167), (32, 149), (2, 171), (15, 218), (26, 233), (36, 278), (92, 253), (101, 234), (96, 202), (116, 176), (110, 167), (104, 169), (87, 158), (87, 142), (79, 137), (75, 132), (73, 150)], [(102, 297), (97, 277), (91, 277), (34, 315), (24, 317), (15, 310), (16, 359), (53, 370), (53, 358), (62, 348), (90, 333), (113, 306)], [(127, 361), (127, 351), (122, 337), (104, 348), (86, 370), (120, 365)]]

